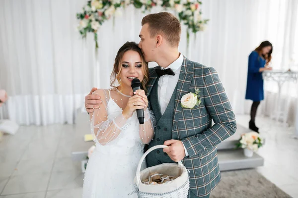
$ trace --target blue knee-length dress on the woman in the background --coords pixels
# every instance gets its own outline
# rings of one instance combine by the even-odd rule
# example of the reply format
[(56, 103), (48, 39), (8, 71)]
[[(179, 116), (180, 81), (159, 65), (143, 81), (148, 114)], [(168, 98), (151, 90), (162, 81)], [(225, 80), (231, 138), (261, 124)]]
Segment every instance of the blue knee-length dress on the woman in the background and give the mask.
[(245, 99), (261, 101), (264, 99), (264, 81), (261, 67), (264, 67), (266, 60), (258, 52), (252, 51), (248, 56), (248, 72)]

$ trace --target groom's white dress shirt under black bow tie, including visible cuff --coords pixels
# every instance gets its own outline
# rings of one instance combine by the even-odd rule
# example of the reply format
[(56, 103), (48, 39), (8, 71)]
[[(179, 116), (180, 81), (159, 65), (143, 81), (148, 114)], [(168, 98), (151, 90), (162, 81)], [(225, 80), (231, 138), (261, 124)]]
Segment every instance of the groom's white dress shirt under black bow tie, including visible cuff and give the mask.
[[(169, 66), (167, 66), (166, 68), (161, 67), (161, 69), (169, 69), (170, 68), (175, 73), (175, 76), (163, 75), (163, 76), (159, 77), (157, 94), (158, 94), (158, 102), (160, 105), (161, 115), (163, 115), (163, 113), (164, 113), (167, 105), (169, 104), (170, 99), (174, 93), (174, 90), (175, 90), (176, 85), (179, 80), (182, 63), (183, 63), (183, 55), (182, 55), (182, 53), (180, 53), (180, 56), (174, 62), (172, 62)], [(184, 145), (183, 145), (183, 147), (185, 150), (185, 156), (188, 156), (188, 152)]]

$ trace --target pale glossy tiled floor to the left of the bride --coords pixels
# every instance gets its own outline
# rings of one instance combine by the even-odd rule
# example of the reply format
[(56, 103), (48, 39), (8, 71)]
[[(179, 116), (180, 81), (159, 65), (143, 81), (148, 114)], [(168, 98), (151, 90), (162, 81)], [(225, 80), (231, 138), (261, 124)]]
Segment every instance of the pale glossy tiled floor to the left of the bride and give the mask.
[(20, 127), (14, 136), (5, 135), (0, 198), (80, 198), (83, 174), (71, 151), (77, 144), (88, 145), (82, 134), (72, 125), (51, 125)]

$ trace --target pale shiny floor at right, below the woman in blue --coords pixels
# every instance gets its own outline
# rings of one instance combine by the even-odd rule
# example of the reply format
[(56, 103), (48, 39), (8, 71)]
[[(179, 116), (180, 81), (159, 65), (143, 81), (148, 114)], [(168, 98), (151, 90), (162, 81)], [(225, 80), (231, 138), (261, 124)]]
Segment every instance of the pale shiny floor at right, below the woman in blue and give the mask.
[[(237, 123), (248, 127), (248, 115), (236, 116)], [(298, 198), (298, 140), (293, 139), (294, 128), (267, 117), (258, 117), (256, 125), (266, 139), (258, 154), (264, 157), (264, 166), (257, 171), (293, 198)]]

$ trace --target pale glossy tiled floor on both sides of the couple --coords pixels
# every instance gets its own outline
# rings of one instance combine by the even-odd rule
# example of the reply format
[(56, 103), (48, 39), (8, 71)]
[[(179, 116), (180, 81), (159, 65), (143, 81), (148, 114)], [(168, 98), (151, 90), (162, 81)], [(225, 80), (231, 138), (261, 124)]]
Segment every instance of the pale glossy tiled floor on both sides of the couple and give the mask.
[[(247, 115), (237, 116), (247, 125)], [(258, 153), (265, 165), (257, 170), (286, 193), (298, 198), (298, 140), (293, 128), (283, 128), (268, 118), (256, 121), (266, 145)], [(20, 127), (0, 142), (0, 198), (80, 198), (83, 174), (71, 151), (84, 150), (88, 133), (83, 126)]]

